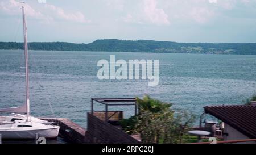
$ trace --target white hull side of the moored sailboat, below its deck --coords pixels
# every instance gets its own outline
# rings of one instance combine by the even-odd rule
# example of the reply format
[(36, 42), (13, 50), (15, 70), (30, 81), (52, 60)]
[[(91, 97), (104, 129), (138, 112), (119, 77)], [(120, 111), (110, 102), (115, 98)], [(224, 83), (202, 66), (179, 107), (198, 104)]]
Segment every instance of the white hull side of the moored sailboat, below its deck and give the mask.
[(0, 131), (2, 139), (34, 139), (36, 134), (38, 137), (55, 138), (59, 135), (59, 127), (51, 129), (38, 129), (31, 131)]

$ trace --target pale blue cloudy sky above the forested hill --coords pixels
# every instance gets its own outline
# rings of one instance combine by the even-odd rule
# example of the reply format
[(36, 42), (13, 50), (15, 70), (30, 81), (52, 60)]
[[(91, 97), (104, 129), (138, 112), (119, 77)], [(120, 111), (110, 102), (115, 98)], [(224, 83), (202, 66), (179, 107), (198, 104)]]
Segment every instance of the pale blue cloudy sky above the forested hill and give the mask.
[[(21, 0), (22, 1), (22, 0)], [(24, 0), (23, 0), (24, 1)], [(256, 43), (256, 0), (0, 0), (0, 41)]]

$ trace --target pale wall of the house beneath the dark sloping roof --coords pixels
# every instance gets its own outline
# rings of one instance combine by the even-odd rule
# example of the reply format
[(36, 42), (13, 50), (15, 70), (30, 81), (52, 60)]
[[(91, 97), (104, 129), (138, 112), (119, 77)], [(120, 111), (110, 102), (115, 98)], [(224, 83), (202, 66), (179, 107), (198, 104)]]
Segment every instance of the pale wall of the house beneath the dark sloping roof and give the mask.
[[(228, 136), (224, 135), (224, 140), (245, 140), (250, 139), (249, 137), (243, 135), (241, 132), (237, 131), (236, 129), (232, 128), (229, 124), (224, 123), (224, 133), (228, 133)], [(246, 144), (256, 144), (256, 142), (243, 142)], [(242, 144), (242, 143), (236, 143)]]

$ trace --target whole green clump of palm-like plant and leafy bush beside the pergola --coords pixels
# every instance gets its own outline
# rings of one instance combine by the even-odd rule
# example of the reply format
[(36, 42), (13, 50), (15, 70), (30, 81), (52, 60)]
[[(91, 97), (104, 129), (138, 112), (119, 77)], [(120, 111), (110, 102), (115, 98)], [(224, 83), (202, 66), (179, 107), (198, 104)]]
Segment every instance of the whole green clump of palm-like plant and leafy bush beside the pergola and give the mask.
[(184, 143), (194, 115), (171, 110), (171, 103), (160, 102), (148, 95), (137, 98), (137, 104), (139, 114), (121, 123), (126, 131), (140, 133), (143, 143)]

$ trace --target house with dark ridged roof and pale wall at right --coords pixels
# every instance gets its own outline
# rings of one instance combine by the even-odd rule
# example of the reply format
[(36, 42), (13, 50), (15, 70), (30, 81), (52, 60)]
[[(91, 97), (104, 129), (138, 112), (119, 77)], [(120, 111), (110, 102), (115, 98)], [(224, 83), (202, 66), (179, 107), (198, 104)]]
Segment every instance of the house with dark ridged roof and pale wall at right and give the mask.
[(224, 140), (256, 139), (256, 106), (205, 106), (204, 111), (224, 122)]

